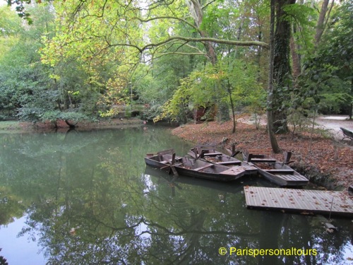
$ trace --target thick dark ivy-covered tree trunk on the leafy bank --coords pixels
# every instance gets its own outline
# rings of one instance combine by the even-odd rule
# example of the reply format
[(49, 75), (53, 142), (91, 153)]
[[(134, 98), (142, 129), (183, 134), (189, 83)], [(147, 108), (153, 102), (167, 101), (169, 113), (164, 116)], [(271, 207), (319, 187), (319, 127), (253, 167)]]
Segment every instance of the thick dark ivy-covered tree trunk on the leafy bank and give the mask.
[(289, 60), (291, 23), (283, 19), (285, 6), (295, 0), (276, 0), (275, 47), (273, 58), (273, 129), (275, 133), (288, 131), (286, 103), (289, 100), (292, 70)]

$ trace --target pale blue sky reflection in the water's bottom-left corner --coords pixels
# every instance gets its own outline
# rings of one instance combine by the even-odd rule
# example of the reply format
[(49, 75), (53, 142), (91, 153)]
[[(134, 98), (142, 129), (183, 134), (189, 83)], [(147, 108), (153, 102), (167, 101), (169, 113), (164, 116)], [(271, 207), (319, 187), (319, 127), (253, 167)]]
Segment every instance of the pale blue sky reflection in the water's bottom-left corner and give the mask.
[[(17, 237), (18, 233), (25, 227), (26, 216), (15, 219), (13, 223), (0, 226), (0, 256), (7, 259), (8, 265), (41, 265), (46, 261), (40, 247), (37, 246), (37, 239), (33, 242), (28, 234)], [(4, 229), (6, 228), (6, 229)], [(35, 253), (36, 255), (33, 255)]]

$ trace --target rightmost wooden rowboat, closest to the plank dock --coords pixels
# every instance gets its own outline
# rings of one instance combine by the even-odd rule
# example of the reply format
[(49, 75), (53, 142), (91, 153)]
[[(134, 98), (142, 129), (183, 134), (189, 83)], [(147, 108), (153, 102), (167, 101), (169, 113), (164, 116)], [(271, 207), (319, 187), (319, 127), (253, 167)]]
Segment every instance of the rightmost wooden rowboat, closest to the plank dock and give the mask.
[[(309, 179), (300, 175), (297, 171), (293, 170), (292, 167), (287, 165), (291, 153), (285, 153), (284, 162), (280, 162), (275, 158), (271, 158), (266, 154), (259, 154), (261, 151), (256, 151), (257, 153), (251, 153), (252, 151), (247, 151), (243, 153), (244, 161), (249, 163), (249, 165), (254, 165), (258, 168), (258, 173), (274, 182), (280, 186), (293, 187), (293, 186), (304, 186), (309, 183)], [(265, 153), (265, 152), (262, 152)]]

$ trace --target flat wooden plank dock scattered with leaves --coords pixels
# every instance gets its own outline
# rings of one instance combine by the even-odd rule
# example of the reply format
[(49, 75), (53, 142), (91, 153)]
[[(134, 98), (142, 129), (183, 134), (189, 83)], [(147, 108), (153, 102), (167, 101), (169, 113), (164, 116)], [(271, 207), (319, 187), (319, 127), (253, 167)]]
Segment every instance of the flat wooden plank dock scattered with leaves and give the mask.
[(353, 193), (244, 187), (246, 207), (353, 218)]

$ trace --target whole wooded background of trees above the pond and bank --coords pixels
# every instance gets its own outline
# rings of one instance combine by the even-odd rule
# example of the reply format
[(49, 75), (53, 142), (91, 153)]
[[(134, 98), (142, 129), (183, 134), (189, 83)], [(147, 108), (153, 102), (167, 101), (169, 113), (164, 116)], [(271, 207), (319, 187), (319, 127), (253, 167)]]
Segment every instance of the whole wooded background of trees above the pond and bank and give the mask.
[(235, 132), (246, 111), (267, 113), (270, 135), (318, 113), (352, 119), (352, 1), (6, 2), (0, 119), (186, 123), (201, 110)]

